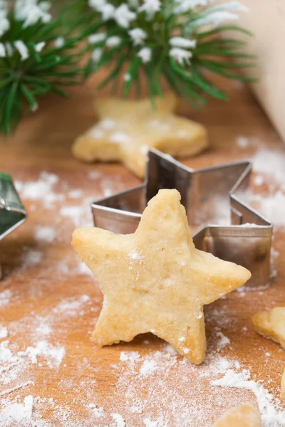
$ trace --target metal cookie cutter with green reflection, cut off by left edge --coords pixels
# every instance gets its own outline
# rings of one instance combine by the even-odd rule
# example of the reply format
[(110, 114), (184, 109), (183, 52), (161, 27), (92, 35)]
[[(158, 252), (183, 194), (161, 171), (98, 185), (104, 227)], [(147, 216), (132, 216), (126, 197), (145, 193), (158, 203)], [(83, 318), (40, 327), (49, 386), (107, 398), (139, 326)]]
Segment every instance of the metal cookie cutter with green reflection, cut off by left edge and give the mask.
[(24, 223), (26, 216), (11, 176), (0, 172), (0, 240)]

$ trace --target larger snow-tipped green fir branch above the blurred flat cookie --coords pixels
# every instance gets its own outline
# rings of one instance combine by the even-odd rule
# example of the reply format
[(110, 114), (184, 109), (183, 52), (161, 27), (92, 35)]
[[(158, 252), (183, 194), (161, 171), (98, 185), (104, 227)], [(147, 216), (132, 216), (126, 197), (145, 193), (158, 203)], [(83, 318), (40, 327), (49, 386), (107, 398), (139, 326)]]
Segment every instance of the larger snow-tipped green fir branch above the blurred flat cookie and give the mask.
[[(237, 73), (253, 67), (256, 59), (244, 52), (247, 43), (239, 38), (240, 34), (251, 35), (236, 25), (237, 11), (246, 9), (239, 1), (215, 5), (212, 0), (130, 0), (128, 4), (78, 0), (76, 7), (93, 33), (89, 42), (95, 55), (88, 64), (88, 74), (112, 63), (120, 64), (101, 85), (123, 77), (123, 96), (128, 96), (133, 85), (139, 85), (140, 70), (145, 73), (151, 99), (162, 95), (161, 81), (165, 78), (176, 93), (196, 106), (204, 104), (207, 96), (228, 99), (207, 80), (208, 71), (234, 80), (255, 81)], [(221, 37), (225, 32), (231, 36)], [(118, 49), (108, 44), (114, 36), (120, 40)], [(120, 75), (127, 64), (128, 80)]]

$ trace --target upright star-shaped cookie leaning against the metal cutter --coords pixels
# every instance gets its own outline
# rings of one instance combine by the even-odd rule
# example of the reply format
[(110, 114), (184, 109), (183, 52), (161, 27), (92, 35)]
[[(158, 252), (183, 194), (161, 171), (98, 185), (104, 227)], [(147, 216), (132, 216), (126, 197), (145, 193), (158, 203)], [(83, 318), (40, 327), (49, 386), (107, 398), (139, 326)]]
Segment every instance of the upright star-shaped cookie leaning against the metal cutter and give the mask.
[(177, 190), (150, 200), (135, 233), (82, 227), (72, 244), (104, 295), (93, 332), (99, 347), (152, 332), (199, 364), (206, 352), (203, 305), (251, 276), (195, 248)]

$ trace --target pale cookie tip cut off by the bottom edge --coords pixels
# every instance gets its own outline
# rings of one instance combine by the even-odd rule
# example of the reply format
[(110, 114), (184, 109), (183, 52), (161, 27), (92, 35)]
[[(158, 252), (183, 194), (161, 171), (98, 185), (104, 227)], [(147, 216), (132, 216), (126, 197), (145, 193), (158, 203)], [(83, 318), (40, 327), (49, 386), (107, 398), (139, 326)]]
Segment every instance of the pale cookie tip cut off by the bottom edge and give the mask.
[(244, 404), (229, 409), (213, 427), (261, 427), (259, 408), (254, 404)]

